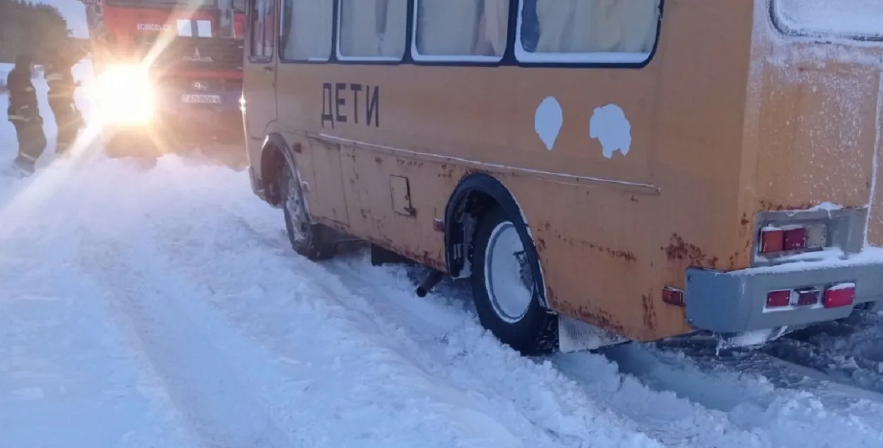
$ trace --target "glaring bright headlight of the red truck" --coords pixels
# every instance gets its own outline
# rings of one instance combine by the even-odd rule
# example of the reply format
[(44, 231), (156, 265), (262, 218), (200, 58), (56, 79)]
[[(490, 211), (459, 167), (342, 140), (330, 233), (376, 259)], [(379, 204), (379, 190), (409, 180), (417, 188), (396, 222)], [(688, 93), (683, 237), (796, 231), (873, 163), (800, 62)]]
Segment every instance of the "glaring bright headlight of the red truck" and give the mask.
[(96, 81), (102, 123), (143, 125), (153, 121), (155, 92), (147, 68), (139, 64), (110, 65)]

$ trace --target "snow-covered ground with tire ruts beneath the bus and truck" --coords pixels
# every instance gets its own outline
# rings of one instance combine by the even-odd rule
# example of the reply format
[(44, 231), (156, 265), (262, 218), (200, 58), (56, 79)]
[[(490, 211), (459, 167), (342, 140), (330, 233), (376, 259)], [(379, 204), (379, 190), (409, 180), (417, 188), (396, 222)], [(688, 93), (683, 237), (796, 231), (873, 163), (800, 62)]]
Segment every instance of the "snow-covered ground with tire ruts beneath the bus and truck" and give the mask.
[(876, 317), (779, 358), (526, 359), (457, 285), (298, 257), (244, 172), (98, 153), (0, 175), (0, 447), (883, 445)]

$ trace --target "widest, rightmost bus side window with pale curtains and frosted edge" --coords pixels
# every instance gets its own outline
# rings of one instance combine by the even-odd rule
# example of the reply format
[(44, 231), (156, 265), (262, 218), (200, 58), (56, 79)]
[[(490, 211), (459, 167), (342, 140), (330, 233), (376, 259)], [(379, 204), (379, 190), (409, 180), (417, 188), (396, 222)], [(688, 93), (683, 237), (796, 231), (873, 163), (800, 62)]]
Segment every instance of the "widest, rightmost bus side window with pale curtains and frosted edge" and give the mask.
[(660, 0), (522, 0), (522, 62), (641, 63), (656, 43)]

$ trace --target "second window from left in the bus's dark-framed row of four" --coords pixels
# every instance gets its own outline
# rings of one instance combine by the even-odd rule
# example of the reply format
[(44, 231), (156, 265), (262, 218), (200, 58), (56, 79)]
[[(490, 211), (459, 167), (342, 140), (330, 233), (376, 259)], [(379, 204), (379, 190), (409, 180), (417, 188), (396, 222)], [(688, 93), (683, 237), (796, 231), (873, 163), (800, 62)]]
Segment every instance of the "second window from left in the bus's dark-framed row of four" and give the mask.
[(408, 0), (341, 0), (338, 56), (401, 60)]

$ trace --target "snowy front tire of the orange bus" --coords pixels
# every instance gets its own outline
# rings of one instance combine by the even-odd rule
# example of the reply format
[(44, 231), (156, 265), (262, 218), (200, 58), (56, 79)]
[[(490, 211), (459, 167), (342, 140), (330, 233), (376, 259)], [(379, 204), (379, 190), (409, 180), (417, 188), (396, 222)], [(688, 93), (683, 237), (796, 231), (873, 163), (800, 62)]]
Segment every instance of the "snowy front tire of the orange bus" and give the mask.
[(289, 163), (283, 164), (279, 187), (291, 249), (313, 261), (333, 258), (335, 245), (328, 237), (328, 229), (310, 219), (300, 180)]

